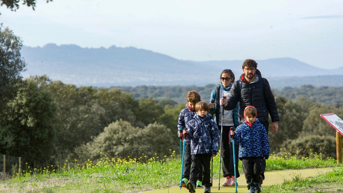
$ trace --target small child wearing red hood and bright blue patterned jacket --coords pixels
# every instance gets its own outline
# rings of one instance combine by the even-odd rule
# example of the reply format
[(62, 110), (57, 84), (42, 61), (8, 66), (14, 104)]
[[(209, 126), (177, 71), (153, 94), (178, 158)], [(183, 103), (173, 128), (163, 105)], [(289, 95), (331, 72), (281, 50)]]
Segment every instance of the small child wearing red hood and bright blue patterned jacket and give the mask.
[(261, 160), (268, 159), (270, 153), (267, 132), (256, 117), (256, 108), (247, 106), (244, 109), (245, 122), (230, 132), (234, 135), (235, 144), (240, 143), (238, 158), (242, 161), (248, 189), (252, 193), (261, 192)]

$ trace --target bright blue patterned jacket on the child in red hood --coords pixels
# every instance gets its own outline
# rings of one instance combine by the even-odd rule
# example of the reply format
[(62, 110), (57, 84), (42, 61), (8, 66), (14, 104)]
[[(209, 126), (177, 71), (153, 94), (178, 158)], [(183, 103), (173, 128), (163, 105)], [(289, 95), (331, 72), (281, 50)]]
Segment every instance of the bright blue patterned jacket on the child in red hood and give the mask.
[(239, 144), (238, 158), (243, 157), (265, 157), (268, 159), (270, 148), (267, 132), (258, 118), (252, 125), (246, 122), (236, 128), (234, 135), (235, 144)]

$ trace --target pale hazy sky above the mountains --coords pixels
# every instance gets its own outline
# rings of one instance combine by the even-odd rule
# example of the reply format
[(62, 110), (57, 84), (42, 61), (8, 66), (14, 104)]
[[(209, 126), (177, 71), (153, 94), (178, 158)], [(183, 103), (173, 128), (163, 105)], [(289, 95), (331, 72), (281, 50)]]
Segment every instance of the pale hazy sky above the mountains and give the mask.
[(183, 60), (292, 57), (343, 66), (343, 1), (37, 0), (0, 8), (27, 46), (133, 46)]

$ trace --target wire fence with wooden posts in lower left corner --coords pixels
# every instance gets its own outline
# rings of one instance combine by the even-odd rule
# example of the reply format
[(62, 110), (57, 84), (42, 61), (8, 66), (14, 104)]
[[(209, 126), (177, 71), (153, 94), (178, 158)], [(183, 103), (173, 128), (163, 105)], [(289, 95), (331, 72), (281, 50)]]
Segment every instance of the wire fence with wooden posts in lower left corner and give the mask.
[(23, 160), (21, 157), (0, 154), (0, 179), (9, 179), (22, 172)]

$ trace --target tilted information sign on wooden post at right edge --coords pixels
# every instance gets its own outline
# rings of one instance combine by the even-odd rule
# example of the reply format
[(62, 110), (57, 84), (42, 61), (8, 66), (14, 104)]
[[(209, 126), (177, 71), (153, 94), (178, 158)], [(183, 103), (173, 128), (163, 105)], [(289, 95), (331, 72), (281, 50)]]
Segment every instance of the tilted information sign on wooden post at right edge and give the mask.
[(327, 121), (336, 132), (336, 156), (337, 163), (342, 164), (342, 135), (343, 135), (343, 120), (334, 113), (326, 113), (320, 115), (325, 121)]

